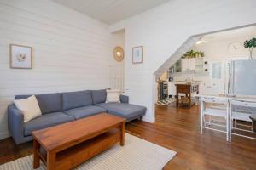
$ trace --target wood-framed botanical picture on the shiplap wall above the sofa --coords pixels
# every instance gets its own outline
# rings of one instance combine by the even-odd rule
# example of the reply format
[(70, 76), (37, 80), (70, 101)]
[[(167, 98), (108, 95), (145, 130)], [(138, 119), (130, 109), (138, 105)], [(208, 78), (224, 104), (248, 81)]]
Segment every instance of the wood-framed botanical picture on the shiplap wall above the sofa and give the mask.
[(10, 68), (31, 69), (32, 68), (32, 48), (22, 45), (9, 45)]

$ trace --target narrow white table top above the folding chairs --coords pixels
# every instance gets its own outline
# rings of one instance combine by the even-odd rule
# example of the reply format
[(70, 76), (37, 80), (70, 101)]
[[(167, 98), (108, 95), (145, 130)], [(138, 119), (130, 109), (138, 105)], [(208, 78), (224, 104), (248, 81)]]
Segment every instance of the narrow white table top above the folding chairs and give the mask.
[(248, 101), (248, 102), (256, 102), (256, 96), (245, 96), (245, 95), (228, 96), (225, 94), (195, 94), (195, 97), (234, 99), (234, 100), (242, 100), (242, 101)]

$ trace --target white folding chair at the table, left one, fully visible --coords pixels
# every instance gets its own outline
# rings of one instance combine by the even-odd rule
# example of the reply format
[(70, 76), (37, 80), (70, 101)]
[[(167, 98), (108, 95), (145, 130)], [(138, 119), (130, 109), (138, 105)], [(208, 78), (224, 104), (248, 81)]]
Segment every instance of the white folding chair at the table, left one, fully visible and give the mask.
[[(215, 105), (212, 107), (212, 105)], [(216, 105), (222, 105), (218, 107)], [(225, 105), (225, 107), (223, 107)], [(206, 116), (209, 116), (208, 122)], [(225, 124), (212, 122), (212, 116), (224, 118)], [(224, 130), (213, 128), (216, 127), (225, 127)], [(201, 134), (203, 128), (210, 130), (226, 133), (226, 140), (229, 141), (229, 101), (228, 99), (215, 99), (215, 98), (201, 98)]]

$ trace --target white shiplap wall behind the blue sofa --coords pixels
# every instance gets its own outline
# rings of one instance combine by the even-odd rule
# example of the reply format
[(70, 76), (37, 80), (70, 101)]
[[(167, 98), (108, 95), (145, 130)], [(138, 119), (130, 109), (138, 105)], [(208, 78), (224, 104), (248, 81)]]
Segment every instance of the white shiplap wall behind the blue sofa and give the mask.
[[(32, 47), (32, 70), (9, 68), (9, 44)], [(49, 0), (0, 0), (0, 139), (15, 94), (109, 88), (108, 26)]]

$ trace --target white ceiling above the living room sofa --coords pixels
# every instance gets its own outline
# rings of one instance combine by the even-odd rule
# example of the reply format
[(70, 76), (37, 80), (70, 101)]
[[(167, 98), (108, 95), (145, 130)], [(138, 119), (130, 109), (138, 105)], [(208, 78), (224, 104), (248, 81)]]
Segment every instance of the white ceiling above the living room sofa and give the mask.
[(53, 0), (109, 25), (169, 0)]

